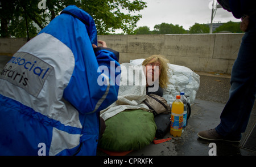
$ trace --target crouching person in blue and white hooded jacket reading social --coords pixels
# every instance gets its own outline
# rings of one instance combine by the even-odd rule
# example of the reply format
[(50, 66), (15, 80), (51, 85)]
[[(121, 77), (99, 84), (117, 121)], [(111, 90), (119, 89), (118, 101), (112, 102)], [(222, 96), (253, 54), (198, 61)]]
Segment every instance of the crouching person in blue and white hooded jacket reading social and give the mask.
[(88, 13), (64, 8), (0, 73), (0, 155), (96, 155), (118, 57)]

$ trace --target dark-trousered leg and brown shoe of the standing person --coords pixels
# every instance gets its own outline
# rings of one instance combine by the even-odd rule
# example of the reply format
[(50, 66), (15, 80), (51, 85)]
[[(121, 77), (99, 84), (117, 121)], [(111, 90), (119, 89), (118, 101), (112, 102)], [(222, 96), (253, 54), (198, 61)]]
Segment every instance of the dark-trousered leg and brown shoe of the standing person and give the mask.
[(229, 100), (221, 113), (221, 122), (214, 130), (202, 131), (200, 138), (240, 142), (253, 108), (256, 92), (256, 28), (242, 38), (231, 75)]

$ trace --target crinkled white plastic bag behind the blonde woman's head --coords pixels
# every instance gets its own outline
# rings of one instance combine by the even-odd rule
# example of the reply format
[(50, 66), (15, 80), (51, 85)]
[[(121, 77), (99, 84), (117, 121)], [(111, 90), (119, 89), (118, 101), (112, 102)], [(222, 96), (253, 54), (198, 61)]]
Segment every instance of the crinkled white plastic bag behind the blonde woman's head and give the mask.
[[(141, 65), (144, 59), (130, 60), (133, 65)], [(176, 95), (180, 95), (180, 92), (184, 92), (188, 97), (188, 102), (193, 104), (196, 99), (196, 93), (200, 86), (200, 76), (193, 72), (188, 67), (172, 65), (168, 63), (170, 67), (170, 84), (166, 89), (163, 89), (163, 97), (168, 101), (169, 105), (176, 100)]]

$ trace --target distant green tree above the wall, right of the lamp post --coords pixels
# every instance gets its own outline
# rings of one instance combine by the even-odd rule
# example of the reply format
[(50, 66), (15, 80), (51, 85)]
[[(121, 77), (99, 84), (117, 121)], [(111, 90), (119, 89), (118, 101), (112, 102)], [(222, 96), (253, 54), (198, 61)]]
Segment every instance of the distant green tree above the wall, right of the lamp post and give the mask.
[(240, 29), (240, 23), (235, 23), (232, 21), (229, 21), (228, 23), (223, 23), (220, 27), (216, 28), (213, 33), (221, 31), (230, 31), (233, 33), (242, 32), (242, 30)]

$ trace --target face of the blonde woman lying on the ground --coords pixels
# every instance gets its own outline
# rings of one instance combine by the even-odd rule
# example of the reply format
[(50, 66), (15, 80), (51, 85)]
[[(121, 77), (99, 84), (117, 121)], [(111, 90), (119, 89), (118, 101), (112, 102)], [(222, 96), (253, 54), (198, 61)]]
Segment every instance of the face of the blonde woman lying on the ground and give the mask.
[(147, 85), (152, 85), (156, 80), (159, 79), (159, 76), (161, 74), (160, 68), (160, 62), (152, 62), (148, 63), (146, 66), (146, 79), (147, 79)]

